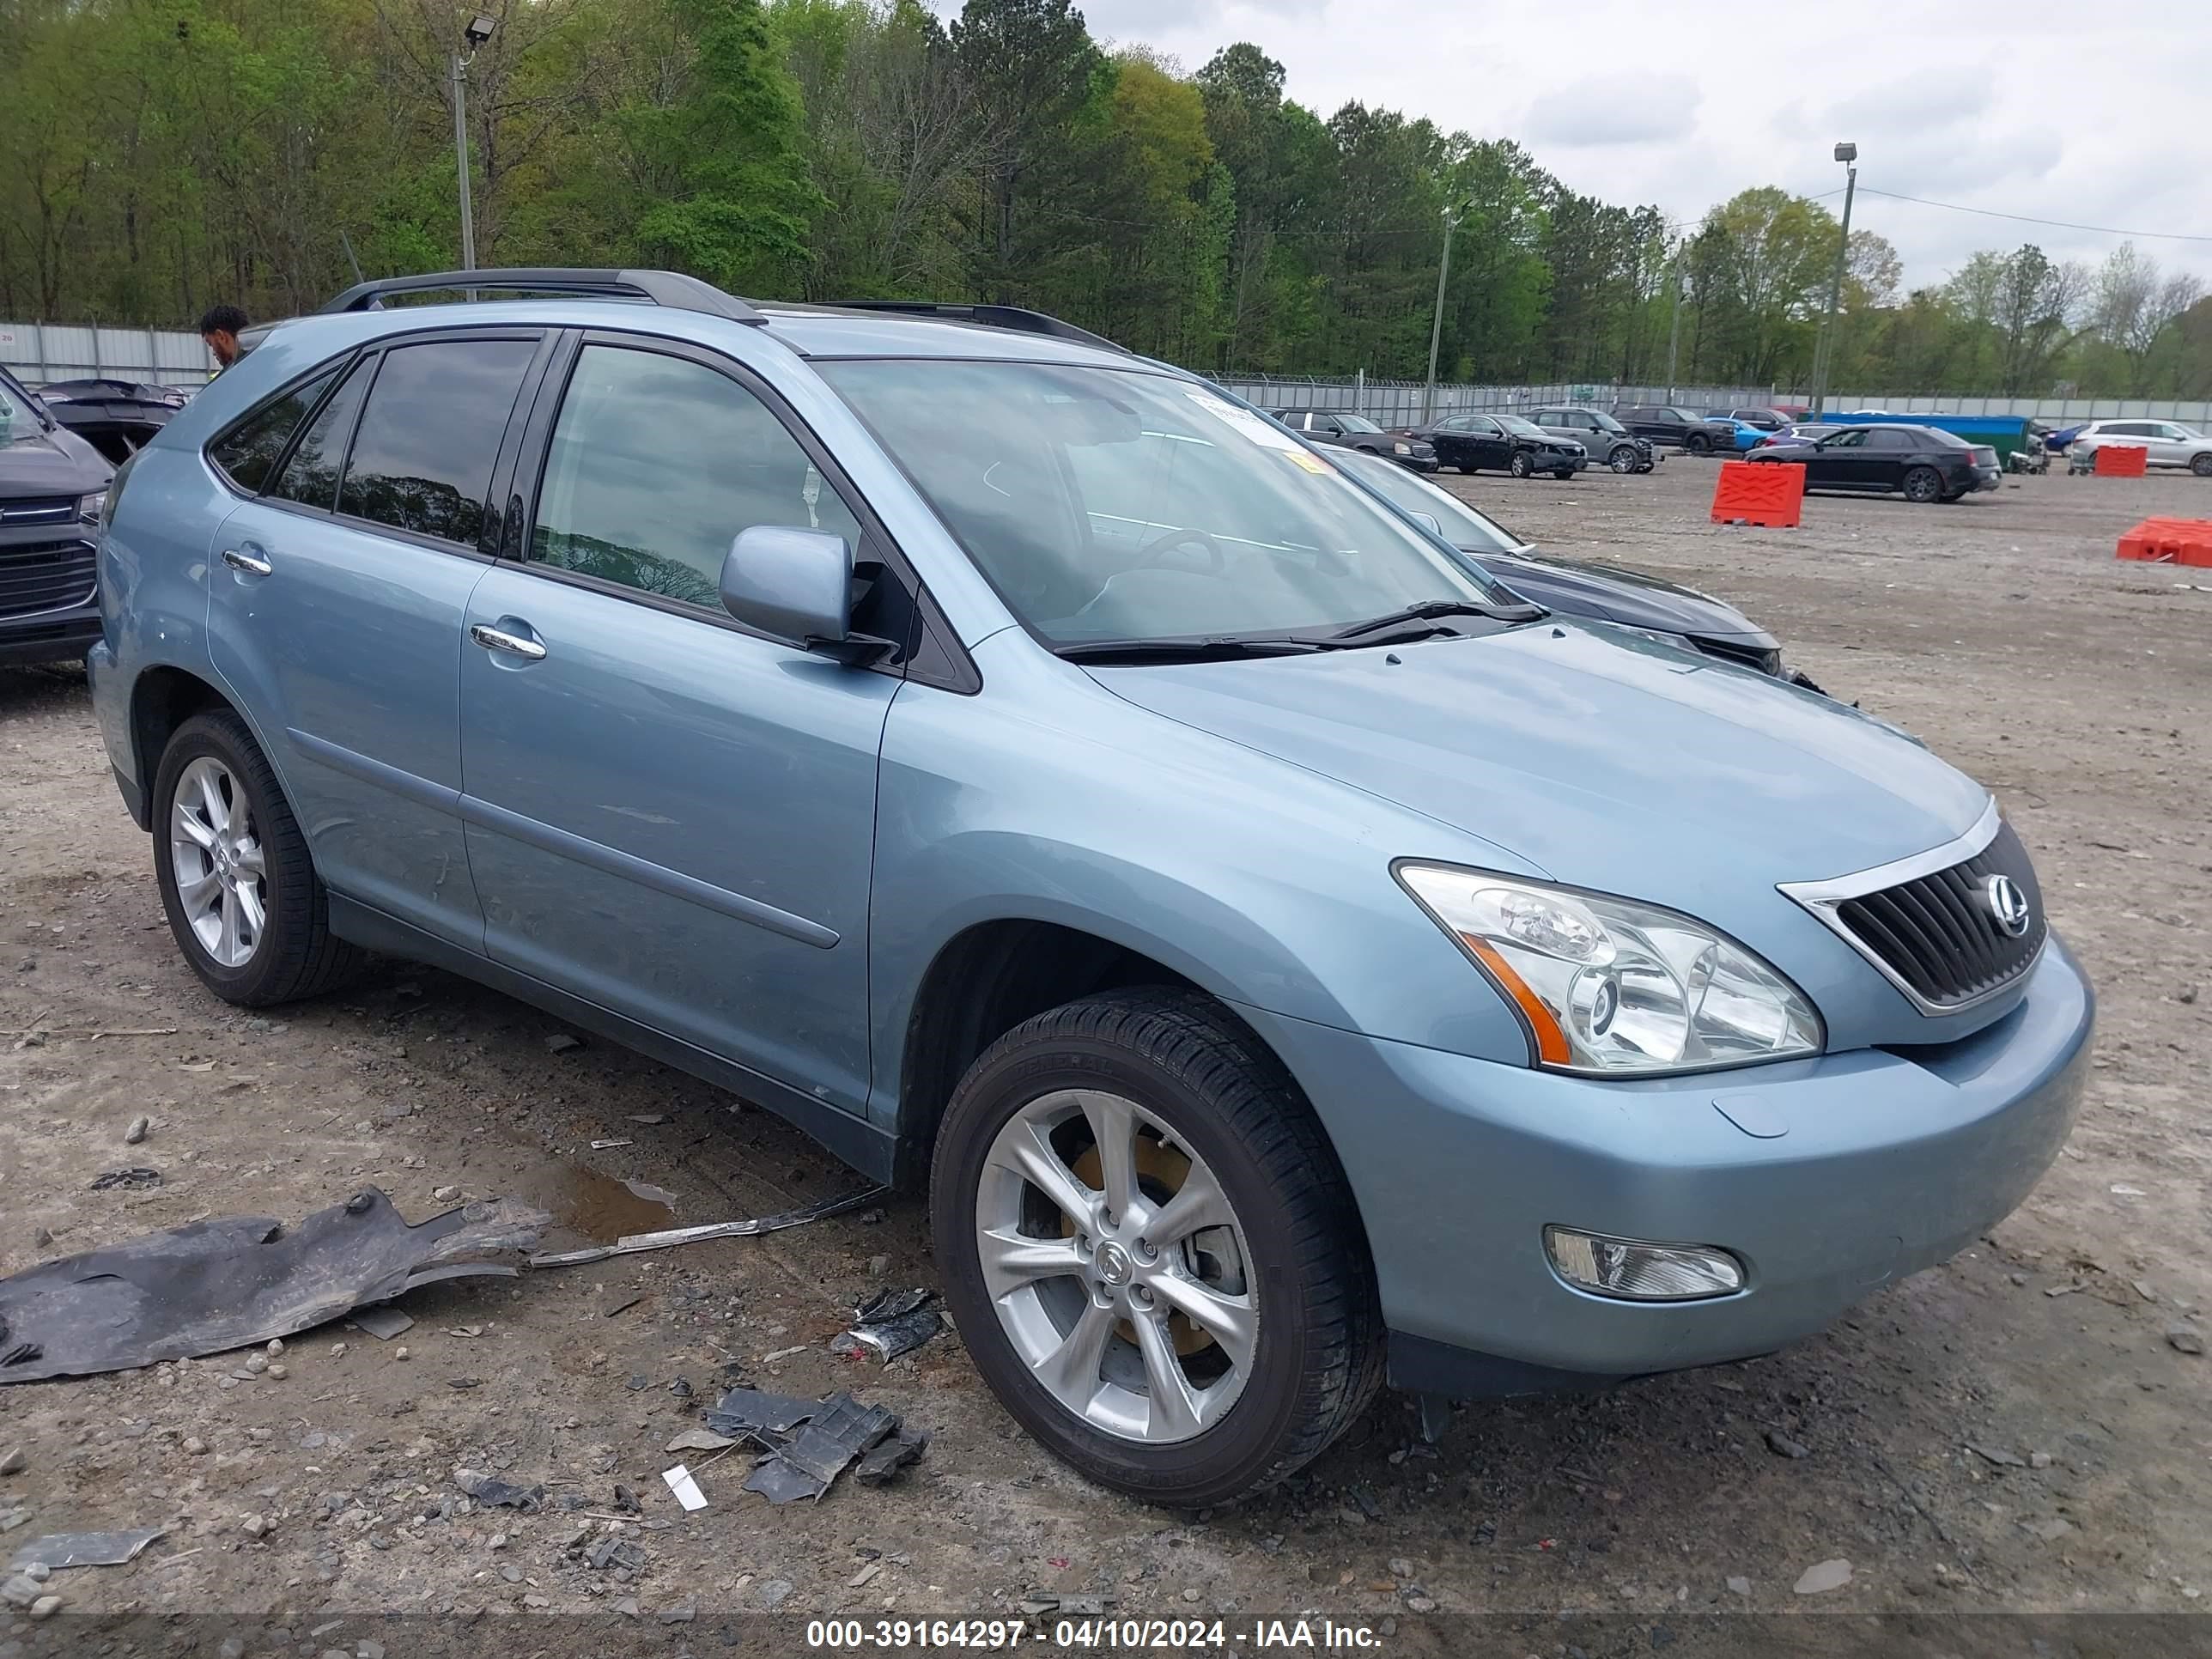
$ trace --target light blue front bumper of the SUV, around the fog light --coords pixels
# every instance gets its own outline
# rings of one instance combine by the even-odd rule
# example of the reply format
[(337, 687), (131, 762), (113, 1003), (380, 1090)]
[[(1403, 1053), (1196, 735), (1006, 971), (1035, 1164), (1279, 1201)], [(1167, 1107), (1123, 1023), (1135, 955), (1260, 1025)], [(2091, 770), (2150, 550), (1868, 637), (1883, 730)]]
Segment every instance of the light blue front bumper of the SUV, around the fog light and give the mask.
[[(1248, 1018), (1352, 1179), (1394, 1378), (1467, 1394), (1767, 1354), (1955, 1254), (2066, 1141), (2095, 998), (2053, 933), (2020, 1006), (1960, 1042), (1648, 1082)], [(1745, 1287), (1690, 1303), (1593, 1296), (1551, 1270), (1546, 1223), (1721, 1245)]]

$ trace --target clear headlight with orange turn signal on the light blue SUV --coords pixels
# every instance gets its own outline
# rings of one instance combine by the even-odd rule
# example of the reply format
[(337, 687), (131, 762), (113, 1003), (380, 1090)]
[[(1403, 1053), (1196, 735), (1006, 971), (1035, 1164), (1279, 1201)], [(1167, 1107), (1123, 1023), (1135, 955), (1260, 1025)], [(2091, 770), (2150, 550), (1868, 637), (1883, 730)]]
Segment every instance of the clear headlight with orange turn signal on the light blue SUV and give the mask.
[(1648, 1075), (1820, 1053), (1805, 993), (1699, 920), (1453, 865), (1396, 874), (1520, 1009), (1540, 1066)]

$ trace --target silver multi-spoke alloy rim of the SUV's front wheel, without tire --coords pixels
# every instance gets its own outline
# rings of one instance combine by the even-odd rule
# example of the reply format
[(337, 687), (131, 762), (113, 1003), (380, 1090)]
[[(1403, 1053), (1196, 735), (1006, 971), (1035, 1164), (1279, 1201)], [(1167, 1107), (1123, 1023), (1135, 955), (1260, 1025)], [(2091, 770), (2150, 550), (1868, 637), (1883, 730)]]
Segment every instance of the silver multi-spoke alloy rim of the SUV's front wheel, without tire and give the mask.
[(1259, 1287), (1221, 1181), (1126, 1095), (1062, 1088), (991, 1141), (975, 1252), (1015, 1354), (1102, 1433), (1175, 1444), (1252, 1378)]

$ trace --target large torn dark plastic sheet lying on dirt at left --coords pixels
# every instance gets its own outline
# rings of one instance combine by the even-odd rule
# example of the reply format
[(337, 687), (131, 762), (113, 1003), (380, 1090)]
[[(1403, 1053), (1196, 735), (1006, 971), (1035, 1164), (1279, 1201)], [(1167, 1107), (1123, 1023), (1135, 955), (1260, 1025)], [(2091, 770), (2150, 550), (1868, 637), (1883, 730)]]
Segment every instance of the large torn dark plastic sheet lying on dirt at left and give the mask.
[(513, 1276), (551, 1223), (495, 1199), (409, 1225), (363, 1188), (296, 1228), (223, 1217), (46, 1261), (0, 1279), (0, 1383), (221, 1354), (438, 1279)]

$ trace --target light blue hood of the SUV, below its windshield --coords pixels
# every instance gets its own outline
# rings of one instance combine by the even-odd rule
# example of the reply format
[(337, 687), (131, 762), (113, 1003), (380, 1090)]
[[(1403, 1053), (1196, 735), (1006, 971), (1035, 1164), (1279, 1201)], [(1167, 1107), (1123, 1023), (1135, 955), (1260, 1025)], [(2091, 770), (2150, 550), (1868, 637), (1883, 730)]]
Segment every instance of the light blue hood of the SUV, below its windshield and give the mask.
[(1867, 714), (1564, 619), (1091, 672), (1139, 708), (1438, 818), (1555, 880), (1752, 933), (1787, 902), (1776, 883), (1927, 852), (1989, 805), (1973, 779)]

